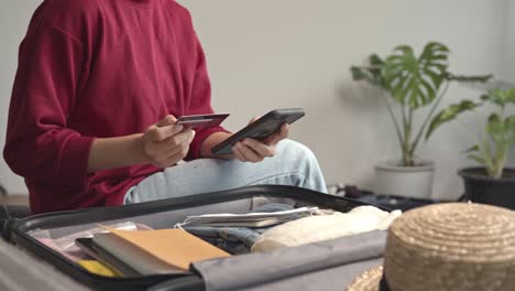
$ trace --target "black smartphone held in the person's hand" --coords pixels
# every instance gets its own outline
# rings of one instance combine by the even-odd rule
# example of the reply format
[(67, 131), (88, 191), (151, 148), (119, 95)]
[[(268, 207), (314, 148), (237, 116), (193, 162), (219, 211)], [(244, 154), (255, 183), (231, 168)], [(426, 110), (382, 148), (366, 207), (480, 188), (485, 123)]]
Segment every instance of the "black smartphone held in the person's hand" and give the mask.
[(234, 147), (238, 141), (245, 138), (263, 141), (273, 133), (280, 131), (282, 125), (291, 125), (304, 116), (305, 112), (302, 108), (272, 110), (256, 121), (232, 134), (230, 138), (212, 147), (211, 152), (212, 154), (231, 154), (232, 147)]

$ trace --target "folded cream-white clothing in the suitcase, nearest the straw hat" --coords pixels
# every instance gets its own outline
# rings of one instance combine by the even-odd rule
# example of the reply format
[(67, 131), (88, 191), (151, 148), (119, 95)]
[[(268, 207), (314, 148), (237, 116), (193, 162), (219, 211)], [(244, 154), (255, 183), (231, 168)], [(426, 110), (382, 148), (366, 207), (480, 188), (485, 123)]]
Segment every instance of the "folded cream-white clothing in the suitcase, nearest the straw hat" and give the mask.
[(373, 206), (360, 206), (349, 213), (309, 216), (267, 229), (252, 246), (252, 252), (296, 247), (338, 237), (387, 229), (401, 211), (387, 213)]

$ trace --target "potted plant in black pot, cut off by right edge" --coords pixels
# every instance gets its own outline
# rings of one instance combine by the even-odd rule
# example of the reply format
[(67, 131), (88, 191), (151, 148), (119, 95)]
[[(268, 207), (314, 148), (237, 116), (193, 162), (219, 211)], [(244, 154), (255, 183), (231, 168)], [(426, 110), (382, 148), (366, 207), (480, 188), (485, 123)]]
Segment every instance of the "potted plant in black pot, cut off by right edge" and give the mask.
[(467, 198), (515, 209), (515, 169), (506, 168), (508, 153), (515, 146), (515, 115), (507, 114), (515, 108), (515, 89), (491, 89), (481, 96), (481, 101), (463, 100), (449, 106), (435, 116), (426, 139), (462, 112), (485, 105), (493, 105), (493, 112), (486, 125), (480, 127), (482, 130), (479, 134), (472, 133), (478, 131), (478, 127), (465, 128), (475, 142), (465, 153), (482, 166), (465, 168), (458, 173), (463, 179)]

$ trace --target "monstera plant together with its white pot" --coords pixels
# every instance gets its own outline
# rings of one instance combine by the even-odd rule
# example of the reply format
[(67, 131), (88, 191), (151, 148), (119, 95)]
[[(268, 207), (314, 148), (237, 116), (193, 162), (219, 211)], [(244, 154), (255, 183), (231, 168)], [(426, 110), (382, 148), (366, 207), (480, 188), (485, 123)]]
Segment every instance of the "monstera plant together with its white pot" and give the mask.
[[(452, 82), (485, 82), (491, 77), (451, 74), (448, 58), (446, 45), (430, 42), (418, 56), (410, 46), (401, 45), (384, 60), (373, 54), (369, 65), (351, 67), (354, 80), (364, 80), (382, 89), (381, 98), (399, 144), (398, 160), (375, 165), (376, 192), (419, 198), (431, 196), (434, 162), (416, 159), (417, 147), (429, 121)], [(427, 106), (431, 108), (426, 116), (420, 116), (419, 109)], [(417, 118), (423, 122), (415, 128)]]

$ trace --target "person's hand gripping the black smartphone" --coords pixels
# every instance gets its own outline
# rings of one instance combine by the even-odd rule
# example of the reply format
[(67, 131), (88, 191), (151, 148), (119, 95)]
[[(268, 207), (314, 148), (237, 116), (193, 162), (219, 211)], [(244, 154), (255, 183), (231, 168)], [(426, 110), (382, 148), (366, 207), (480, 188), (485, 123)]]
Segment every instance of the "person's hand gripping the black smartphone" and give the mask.
[[(259, 118), (253, 118), (250, 122), (254, 122)], [(258, 163), (263, 161), (265, 158), (274, 157), (276, 146), (280, 141), (286, 139), (289, 134), (289, 125), (284, 123), (281, 130), (264, 141), (245, 138), (239, 141), (232, 147), (234, 157), (242, 162)]]

